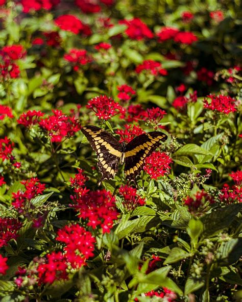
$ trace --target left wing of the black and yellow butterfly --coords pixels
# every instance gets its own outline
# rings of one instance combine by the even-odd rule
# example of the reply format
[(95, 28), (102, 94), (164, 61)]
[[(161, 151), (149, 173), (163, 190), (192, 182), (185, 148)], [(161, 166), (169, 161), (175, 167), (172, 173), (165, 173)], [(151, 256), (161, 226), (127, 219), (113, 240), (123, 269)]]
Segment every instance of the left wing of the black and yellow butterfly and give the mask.
[(100, 182), (114, 178), (122, 156), (122, 145), (110, 133), (99, 127), (85, 126), (82, 132), (98, 155), (98, 167), (102, 174)]

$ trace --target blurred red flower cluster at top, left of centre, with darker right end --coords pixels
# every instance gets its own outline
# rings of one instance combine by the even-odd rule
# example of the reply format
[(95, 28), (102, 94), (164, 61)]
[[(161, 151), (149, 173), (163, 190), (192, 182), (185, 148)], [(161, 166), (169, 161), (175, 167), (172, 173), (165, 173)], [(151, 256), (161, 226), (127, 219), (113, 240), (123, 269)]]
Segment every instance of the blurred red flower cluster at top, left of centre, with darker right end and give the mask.
[(82, 23), (80, 19), (73, 15), (62, 15), (55, 19), (56, 25), (63, 31), (72, 32), (74, 34), (82, 33), (86, 36), (91, 34), (89, 26)]

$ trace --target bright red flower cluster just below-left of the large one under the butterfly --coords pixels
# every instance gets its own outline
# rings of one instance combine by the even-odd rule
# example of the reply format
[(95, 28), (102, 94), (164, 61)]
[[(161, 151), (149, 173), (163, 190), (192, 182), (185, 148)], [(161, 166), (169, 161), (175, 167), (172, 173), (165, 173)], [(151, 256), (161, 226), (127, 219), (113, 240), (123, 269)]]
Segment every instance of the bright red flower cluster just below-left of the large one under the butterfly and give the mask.
[(65, 259), (72, 268), (80, 268), (93, 257), (95, 238), (79, 224), (65, 225), (58, 230), (57, 241), (65, 243)]

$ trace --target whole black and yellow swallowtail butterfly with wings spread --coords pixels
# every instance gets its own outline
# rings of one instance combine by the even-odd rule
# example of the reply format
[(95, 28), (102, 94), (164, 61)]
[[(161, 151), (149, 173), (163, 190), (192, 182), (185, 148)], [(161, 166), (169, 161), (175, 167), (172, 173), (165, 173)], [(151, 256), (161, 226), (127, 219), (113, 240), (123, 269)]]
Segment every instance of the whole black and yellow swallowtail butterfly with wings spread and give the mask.
[(136, 176), (144, 166), (148, 157), (167, 136), (159, 131), (141, 134), (128, 144), (119, 143), (115, 137), (102, 128), (85, 126), (82, 128), (90, 145), (98, 155), (98, 167), (103, 180), (113, 179), (117, 172), (119, 162), (125, 163), (125, 175), (129, 181), (136, 183)]

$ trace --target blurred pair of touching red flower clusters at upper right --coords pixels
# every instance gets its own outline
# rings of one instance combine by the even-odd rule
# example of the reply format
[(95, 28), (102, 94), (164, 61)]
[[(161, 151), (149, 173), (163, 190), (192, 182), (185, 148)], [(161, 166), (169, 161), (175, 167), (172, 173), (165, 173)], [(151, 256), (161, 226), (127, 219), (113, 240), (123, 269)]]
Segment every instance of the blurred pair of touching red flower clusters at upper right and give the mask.
[(164, 27), (158, 33), (158, 41), (164, 42), (167, 40), (174, 40), (181, 44), (192, 44), (198, 40), (198, 37), (191, 32), (181, 32), (176, 28)]

